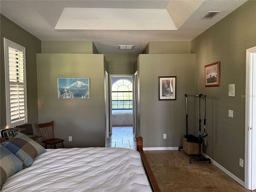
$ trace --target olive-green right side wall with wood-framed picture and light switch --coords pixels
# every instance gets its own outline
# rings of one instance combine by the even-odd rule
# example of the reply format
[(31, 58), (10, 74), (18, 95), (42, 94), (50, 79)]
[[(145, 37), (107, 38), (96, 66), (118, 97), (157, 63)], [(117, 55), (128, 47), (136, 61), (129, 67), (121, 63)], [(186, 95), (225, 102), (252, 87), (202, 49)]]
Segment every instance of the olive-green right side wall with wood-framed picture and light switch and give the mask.
[[(248, 1), (191, 42), (196, 54), (196, 93), (207, 95), (207, 146), (204, 152), (244, 180), (246, 49), (256, 46), (256, 1)], [(220, 86), (204, 86), (204, 66), (220, 61)], [(228, 96), (235, 84), (235, 97)], [(234, 118), (228, 117), (234, 110)], [(196, 117), (196, 119), (198, 116)]]

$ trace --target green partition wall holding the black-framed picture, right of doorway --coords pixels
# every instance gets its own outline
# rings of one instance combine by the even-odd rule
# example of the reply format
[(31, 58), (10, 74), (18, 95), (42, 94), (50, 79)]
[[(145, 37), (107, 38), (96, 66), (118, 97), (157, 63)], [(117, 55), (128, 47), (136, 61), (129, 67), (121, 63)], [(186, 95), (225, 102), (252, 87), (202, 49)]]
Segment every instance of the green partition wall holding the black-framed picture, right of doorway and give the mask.
[[(141, 54), (138, 60), (143, 146), (182, 146), (186, 134), (185, 94), (195, 94), (195, 54)], [(176, 100), (158, 100), (158, 76), (176, 76)], [(190, 120), (194, 129), (193, 114)], [(167, 134), (167, 139), (163, 139), (163, 134)]]

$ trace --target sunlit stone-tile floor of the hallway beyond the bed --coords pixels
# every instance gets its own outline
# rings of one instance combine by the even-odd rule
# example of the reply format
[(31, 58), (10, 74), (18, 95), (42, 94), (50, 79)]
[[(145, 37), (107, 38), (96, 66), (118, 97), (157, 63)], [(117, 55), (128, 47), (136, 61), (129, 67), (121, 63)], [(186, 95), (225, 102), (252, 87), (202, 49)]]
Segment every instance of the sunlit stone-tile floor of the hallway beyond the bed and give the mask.
[(108, 138), (107, 147), (136, 150), (136, 140), (132, 133), (132, 127), (112, 127), (112, 134)]

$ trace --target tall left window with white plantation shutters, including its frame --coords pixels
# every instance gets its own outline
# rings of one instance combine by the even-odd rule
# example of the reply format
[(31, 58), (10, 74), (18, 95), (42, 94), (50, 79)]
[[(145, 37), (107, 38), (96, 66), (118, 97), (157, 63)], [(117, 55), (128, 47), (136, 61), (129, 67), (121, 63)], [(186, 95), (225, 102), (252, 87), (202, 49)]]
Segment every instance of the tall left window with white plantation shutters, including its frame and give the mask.
[(25, 54), (23, 46), (4, 38), (6, 124), (9, 128), (28, 122)]

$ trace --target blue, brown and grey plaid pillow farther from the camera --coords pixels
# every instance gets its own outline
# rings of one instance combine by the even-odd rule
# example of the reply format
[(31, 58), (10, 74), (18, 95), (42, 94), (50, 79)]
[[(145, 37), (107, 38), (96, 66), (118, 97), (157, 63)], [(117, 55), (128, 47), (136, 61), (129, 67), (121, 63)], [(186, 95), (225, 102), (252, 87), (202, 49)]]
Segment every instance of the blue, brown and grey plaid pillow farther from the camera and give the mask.
[(18, 133), (14, 138), (1, 144), (15, 154), (26, 167), (30, 167), (34, 158), (46, 152), (45, 148), (23, 133)]

